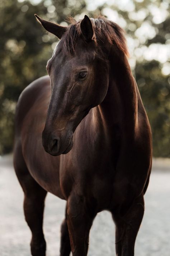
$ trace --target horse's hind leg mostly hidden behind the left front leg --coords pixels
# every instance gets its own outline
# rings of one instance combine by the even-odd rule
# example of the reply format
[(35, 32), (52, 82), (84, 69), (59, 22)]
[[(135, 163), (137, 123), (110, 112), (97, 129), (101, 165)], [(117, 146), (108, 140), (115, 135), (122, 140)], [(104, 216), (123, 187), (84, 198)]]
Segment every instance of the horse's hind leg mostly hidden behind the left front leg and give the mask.
[(61, 225), (61, 246), (60, 256), (69, 256), (71, 252), (69, 230), (67, 226), (67, 220), (63, 220)]

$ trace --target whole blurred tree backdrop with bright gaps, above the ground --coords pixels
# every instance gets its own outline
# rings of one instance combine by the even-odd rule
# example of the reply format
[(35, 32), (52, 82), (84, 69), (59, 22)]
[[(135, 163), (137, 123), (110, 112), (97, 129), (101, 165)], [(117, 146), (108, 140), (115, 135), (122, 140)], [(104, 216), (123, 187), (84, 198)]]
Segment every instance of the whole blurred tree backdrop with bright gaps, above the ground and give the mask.
[[(110, 4), (110, 2), (112, 4)], [(153, 134), (155, 157), (170, 157), (170, 15), (169, 0), (0, 0), (0, 154), (13, 148), (14, 112), (22, 90), (46, 75), (57, 43), (34, 13), (66, 25), (104, 15), (126, 31), (129, 62)], [(99, 6), (100, 4), (100, 6)]]

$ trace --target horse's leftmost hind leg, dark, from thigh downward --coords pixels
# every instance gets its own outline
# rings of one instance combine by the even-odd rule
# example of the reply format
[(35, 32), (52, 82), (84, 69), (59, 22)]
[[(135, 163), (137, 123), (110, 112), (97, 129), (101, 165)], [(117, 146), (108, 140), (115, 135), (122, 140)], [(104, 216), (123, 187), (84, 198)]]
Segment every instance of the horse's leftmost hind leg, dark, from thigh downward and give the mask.
[(32, 232), (31, 253), (33, 256), (46, 255), (46, 241), (43, 235), (44, 199), (47, 192), (30, 175), (22, 156), (20, 145), (15, 144), (14, 167), (24, 191), (25, 220)]

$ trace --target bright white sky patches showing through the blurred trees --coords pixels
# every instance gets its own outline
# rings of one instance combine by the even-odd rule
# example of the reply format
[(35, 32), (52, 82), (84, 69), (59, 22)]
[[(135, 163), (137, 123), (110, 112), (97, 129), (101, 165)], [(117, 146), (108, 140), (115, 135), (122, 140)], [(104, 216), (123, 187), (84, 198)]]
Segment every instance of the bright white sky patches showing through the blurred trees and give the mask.
[[(24, 0), (18, 0), (18, 2), (24, 2)], [(30, 0), (30, 3), (37, 5), (41, 0)], [(137, 3), (143, 3), (144, 0), (136, 0)], [(70, 0), (70, 7), (76, 3), (75, 0)], [(146, 59), (157, 60), (161, 63), (161, 71), (163, 75), (169, 75), (170, 73), (170, 31), (166, 35), (165, 44), (154, 43), (147, 46), (140, 46), (146, 42), (148, 39), (152, 39), (155, 37), (158, 28), (153, 27), (149, 20), (144, 21), (147, 15), (150, 13), (152, 15), (152, 22), (154, 24), (160, 24), (164, 22), (169, 14), (169, 0), (164, 0), (160, 5), (156, 4), (156, 0), (152, 0), (149, 4), (146, 4), (142, 9), (135, 11), (135, 4), (133, 0), (86, 0), (87, 6), (86, 9), (90, 12), (95, 11), (101, 5), (106, 5), (105, 8), (102, 9), (101, 15), (105, 15), (111, 21), (114, 21), (119, 24), (124, 30), (127, 28), (126, 19), (122, 17), (121, 14), (117, 10), (114, 10), (113, 6), (117, 6), (121, 11), (128, 12), (128, 18), (132, 21), (132, 23), (128, 24), (128, 29), (134, 32), (135, 37), (131, 37), (130, 35), (126, 35), (127, 44), (129, 48), (130, 58), (129, 62), (131, 64), (132, 69), (136, 65), (136, 59), (138, 61), (143, 61)], [(46, 0), (44, 2), (46, 6), (48, 6), (49, 18), (52, 18), (55, 21), (55, 16), (53, 13), (57, 10), (54, 5), (52, 5), (51, 0)], [(112, 9), (110, 8), (112, 7)], [(23, 12), (27, 10), (27, 6), (23, 8)], [(66, 15), (70, 14), (69, 8), (67, 10), (63, 10)], [(80, 15), (75, 15), (75, 19), (79, 20), (84, 17), (86, 12), (82, 12)], [(99, 13), (100, 14), (100, 13)], [(136, 29), (136, 25), (133, 22), (142, 22), (141, 26)], [(62, 22), (62, 25), (65, 25)], [(139, 47), (140, 46), (140, 47)], [(53, 44), (52, 48), (55, 47)]]

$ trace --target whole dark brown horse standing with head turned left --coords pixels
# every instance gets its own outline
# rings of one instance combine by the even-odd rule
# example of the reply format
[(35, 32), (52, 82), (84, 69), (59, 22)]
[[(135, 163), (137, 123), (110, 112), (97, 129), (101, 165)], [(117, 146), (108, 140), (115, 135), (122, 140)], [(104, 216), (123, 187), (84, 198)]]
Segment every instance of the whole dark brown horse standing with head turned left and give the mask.
[[(14, 166), (33, 256), (44, 256), (47, 192), (67, 201), (61, 256), (85, 256), (96, 214), (112, 213), (118, 256), (134, 255), (152, 159), (151, 129), (122, 29), (105, 18), (42, 26), (60, 40), (48, 76), (16, 108)], [(45, 149), (45, 150), (44, 150)]]

